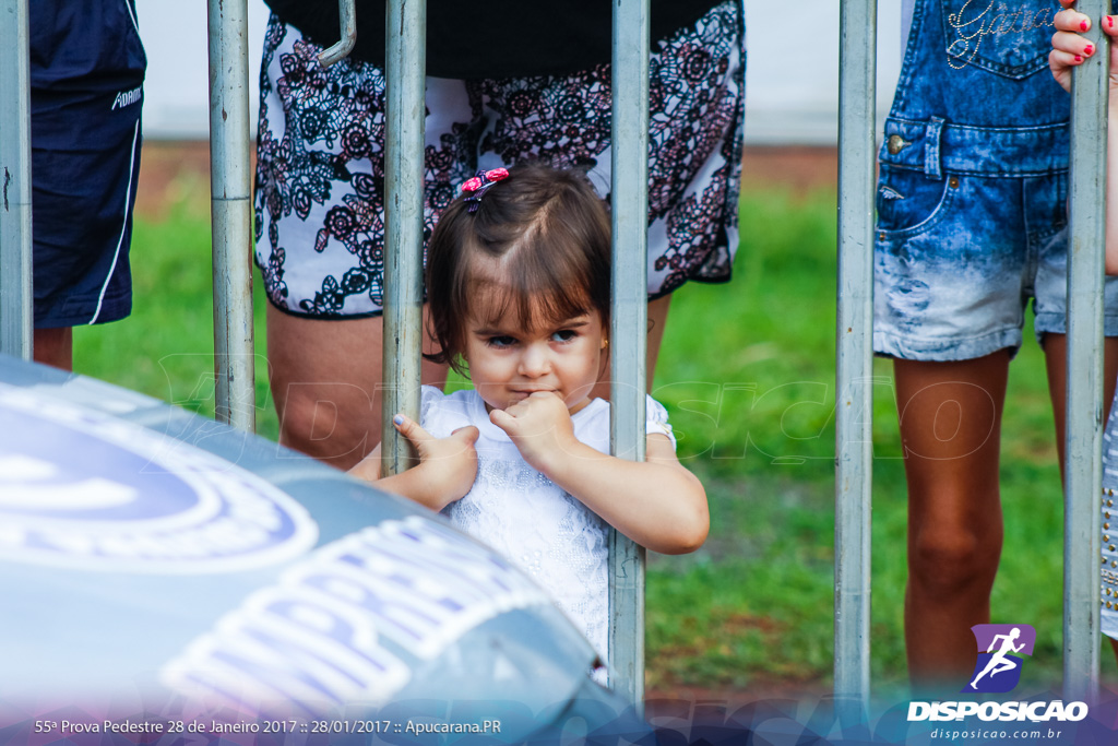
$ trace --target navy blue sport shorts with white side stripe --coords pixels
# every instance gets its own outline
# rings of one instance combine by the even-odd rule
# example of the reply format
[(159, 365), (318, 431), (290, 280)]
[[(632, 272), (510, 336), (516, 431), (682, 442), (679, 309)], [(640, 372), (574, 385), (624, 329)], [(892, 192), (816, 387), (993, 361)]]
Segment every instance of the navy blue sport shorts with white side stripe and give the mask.
[(35, 325), (123, 319), (146, 67), (135, 11), (132, 0), (30, 9)]

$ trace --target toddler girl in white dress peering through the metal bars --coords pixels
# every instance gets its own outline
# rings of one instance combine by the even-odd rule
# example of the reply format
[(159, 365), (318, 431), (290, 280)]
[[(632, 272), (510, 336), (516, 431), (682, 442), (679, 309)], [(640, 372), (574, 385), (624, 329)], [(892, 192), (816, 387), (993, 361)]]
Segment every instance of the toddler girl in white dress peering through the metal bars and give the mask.
[[(607, 528), (665, 554), (707, 538), (707, 495), (647, 402), (647, 461), (609, 453), (609, 221), (589, 182), (541, 166), (466, 182), (430, 239), (427, 292), (442, 351), (474, 390), (423, 388), (395, 424), (419, 465), (378, 485), (439, 510), (515, 561), (608, 660)], [(379, 447), (352, 470), (380, 474)]]

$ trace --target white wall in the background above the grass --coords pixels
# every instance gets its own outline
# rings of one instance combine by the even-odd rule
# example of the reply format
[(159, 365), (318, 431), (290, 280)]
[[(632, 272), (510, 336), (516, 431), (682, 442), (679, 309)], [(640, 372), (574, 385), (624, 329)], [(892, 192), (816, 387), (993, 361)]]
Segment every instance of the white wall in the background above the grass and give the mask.
[[(745, 2), (749, 54), (746, 141), (751, 144), (834, 144), (839, 106), (839, 2)], [(879, 3), (879, 121), (889, 110), (900, 73), (900, 3), (901, 0)], [(267, 8), (263, 0), (248, 0), (248, 7), (249, 103), (255, 122)], [(208, 136), (206, 3), (200, 0), (136, 0), (136, 9), (148, 51), (144, 136)], [(360, 19), (358, 25), (360, 27)]]

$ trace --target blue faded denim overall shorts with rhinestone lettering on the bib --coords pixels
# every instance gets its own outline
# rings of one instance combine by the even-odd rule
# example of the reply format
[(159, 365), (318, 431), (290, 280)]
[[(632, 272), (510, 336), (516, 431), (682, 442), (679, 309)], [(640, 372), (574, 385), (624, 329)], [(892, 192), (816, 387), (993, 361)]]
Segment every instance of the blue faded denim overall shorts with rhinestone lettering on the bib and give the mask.
[[(1048, 55), (1055, 0), (917, 0), (885, 122), (873, 348), (969, 360), (1067, 331), (1070, 98)], [(1106, 283), (1118, 336), (1118, 278)]]

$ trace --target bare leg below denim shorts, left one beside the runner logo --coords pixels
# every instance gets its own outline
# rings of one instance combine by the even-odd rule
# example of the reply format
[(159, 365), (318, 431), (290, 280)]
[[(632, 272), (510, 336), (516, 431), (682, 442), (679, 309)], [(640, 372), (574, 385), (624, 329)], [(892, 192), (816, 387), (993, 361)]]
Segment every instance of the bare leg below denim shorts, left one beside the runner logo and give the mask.
[(989, 621), (1002, 551), (998, 448), (1010, 356), (897, 360), (909, 491), (904, 639), (913, 686), (955, 686)]

